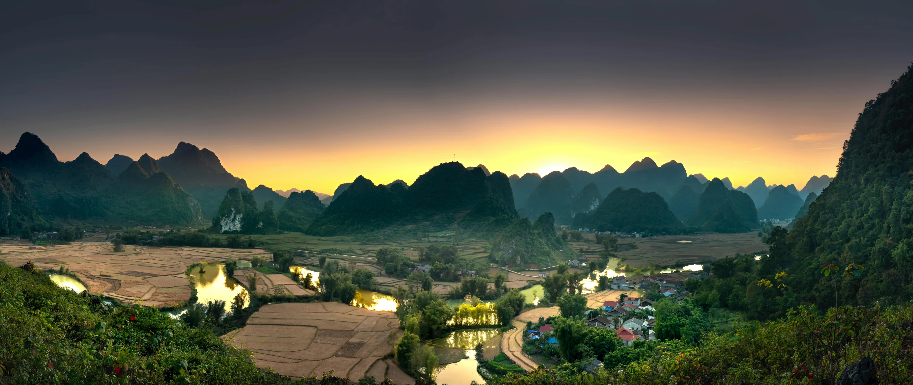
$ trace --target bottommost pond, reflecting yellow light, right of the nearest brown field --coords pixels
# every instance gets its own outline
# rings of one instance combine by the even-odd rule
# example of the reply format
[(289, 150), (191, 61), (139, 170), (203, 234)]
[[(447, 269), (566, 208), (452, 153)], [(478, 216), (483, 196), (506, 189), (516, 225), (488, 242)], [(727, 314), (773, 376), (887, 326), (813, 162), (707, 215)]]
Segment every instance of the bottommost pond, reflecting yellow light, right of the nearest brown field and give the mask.
[[(455, 350), (456, 362), (450, 362), (441, 365), (437, 369), (435, 381), (439, 384), (447, 385), (469, 385), (470, 382), (476, 381), (484, 384), (485, 379), (478, 374), (476, 367), (476, 345), (485, 344), (491, 338), (500, 338), (501, 332), (493, 328), (477, 328), (468, 330), (456, 330), (451, 332), (445, 338), (431, 340), (431, 345), (436, 350)], [(462, 355), (459, 352), (462, 351)], [(442, 360), (447, 362), (448, 360)]]

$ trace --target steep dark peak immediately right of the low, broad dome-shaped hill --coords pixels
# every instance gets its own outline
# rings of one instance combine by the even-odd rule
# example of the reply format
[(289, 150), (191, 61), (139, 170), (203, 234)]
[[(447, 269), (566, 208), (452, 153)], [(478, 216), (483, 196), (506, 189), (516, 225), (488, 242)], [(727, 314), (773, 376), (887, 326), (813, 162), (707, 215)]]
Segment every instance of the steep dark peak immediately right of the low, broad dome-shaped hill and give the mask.
[(708, 182), (698, 199), (697, 210), (687, 220), (690, 226), (720, 233), (747, 232), (757, 223), (758, 212), (749, 195), (729, 190), (719, 178)]

